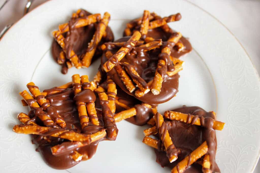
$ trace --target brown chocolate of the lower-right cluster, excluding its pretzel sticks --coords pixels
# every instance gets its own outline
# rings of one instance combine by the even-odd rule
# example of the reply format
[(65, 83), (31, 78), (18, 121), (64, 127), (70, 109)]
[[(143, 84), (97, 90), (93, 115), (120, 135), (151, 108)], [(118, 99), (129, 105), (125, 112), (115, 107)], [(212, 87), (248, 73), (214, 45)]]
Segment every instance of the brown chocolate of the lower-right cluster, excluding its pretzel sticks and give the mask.
[[(188, 168), (185, 171), (185, 173), (190, 172), (202, 172), (202, 166), (198, 163), (201, 161), (198, 160), (197, 162), (190, 165), (191, 157), (190, 153), (198, 148), (204, 141), (207, 141), (208, 145), (208, 152), (207, 154), (210, 155), (210, 162), (211, 162), (211, 168), (212, 172), (220, 172), (218, 165), (215, 161), (215, 155), (216, 155), (216, 149), (217, 149), (217, 139), (216, 139), (216, 133), (213, 129), (213, 119), (215, 119), (215, 116), (212, 112), (206, 112), (200, 107), (193, 106), (193, 107), (180, 107), (177, 109), (174, 109), (173, 111), (181, 112), (185, 114), (190, 115), (198, 115), (196, 116), (196, 119), (200, 119), (202, 126), (192, 125), (196, 121), (195, 117), (191, 121), (191, 116), (188, 116), (187, 122), (180, 122), (180, 121), (174, 121), (174, 120), (166, 120), (168, 132), (170, 134), (170, 137), (173, 141), (173, 144), (175, 145), (176, 149), (180, 151), (178, 154), (178, 159), (170, 163), (168, 161), (168, 157), (165, 153), (165, 151), (158, 151), (155, 150), (157, 159), (156, 161), (162, 166), (162, 167), (170, 167), (173, 168), (177, 166), (177, 170), (179, 169), (178, 163), (183, 160), (186, 156), (189, 156), (189, 162), (188, 162)], [(159, 146), (159, 144), (158, 144)], [(161, 146), (160, 146), (161, 147)]]

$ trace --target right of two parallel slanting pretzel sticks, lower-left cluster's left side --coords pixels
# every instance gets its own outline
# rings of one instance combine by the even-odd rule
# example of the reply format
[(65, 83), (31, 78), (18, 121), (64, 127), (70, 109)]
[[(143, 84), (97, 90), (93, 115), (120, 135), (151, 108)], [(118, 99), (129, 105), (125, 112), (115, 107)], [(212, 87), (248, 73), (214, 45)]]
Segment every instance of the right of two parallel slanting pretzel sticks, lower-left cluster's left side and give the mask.
[[(27, 84), (27, 88), (29, 89), (31, 94), (33, 94), (34, 98), (36, 98), (36, 101), (40, 104), (40, 106), (43, 107), (43, 109), (47, 109), (47, 107), (50, 106), (50, 103), (47, 102), (47, 100), (44, 98), (44, 96), (40, 92), (39, 88), (37, 86), (35, 86), (35, 84), (33, 82), (29, 82)], [(53, 115), (50, 115), (50, 116), (51, 116), (52, 119), (54, 119), (54, 121), (61, 128), (66, 127), (66, 122), (57, 112), (56, 112), (56, 114), (54, 113)]]

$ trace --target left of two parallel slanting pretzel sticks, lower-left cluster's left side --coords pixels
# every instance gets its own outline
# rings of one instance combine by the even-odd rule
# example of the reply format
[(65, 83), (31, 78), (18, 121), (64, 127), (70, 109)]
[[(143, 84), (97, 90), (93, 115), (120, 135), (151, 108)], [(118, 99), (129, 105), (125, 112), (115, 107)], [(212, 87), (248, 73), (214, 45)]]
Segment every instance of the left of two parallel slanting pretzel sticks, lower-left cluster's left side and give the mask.
[[(39, 108), (40, 106), (38, 105), (38, 103), (34, 100), (34, 98), (26, 91), (24, 90), (23, 92), (19, 93), (23, 99), (27, 102), (27, 104), (32, 108)], [(31, 104), (30, 104), (31, 103)], [(37, 116), (39, 117), (39, 119), (44, 123), (44, 125), (49, 126), (49, 127), (56, 127), (56, 124), (54, 123), (54, 121), (46, 114), (46, 112), (39, 110), (40, 113), (37, 114)]]

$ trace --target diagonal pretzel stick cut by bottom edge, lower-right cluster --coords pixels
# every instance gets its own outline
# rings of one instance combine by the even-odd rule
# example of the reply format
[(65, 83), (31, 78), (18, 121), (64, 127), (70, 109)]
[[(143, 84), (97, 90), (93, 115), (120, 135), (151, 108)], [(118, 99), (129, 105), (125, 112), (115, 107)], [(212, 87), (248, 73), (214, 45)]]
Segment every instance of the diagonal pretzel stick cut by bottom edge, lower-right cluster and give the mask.
[(182, 161), (180, 161), (173, 169), (172, 173), (182, 173), (190, 165), (196, 162), (200, 157), (206, 154), (208, 151), (207, 142), (203, 142), (196, 150), (192, 151), (191, 154), (186, 156)]

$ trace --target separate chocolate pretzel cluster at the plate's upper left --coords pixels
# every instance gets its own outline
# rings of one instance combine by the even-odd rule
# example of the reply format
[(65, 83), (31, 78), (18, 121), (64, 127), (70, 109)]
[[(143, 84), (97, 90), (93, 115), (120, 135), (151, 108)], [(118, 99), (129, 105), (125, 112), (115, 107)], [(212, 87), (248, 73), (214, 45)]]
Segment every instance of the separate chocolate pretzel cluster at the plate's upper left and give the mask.
[(79, 9), (68, 23), (53, 31), (51, 52), (57, 63), (62, 65), (63, 74), (72, 66), (89, 67), (93, 57), (95, 59), (102, 54), (99, 45), (114, 40), (113, 32), (107, 26), (109, 20), (108, 12), (101, 18), (99, 13), (91, 14)]

